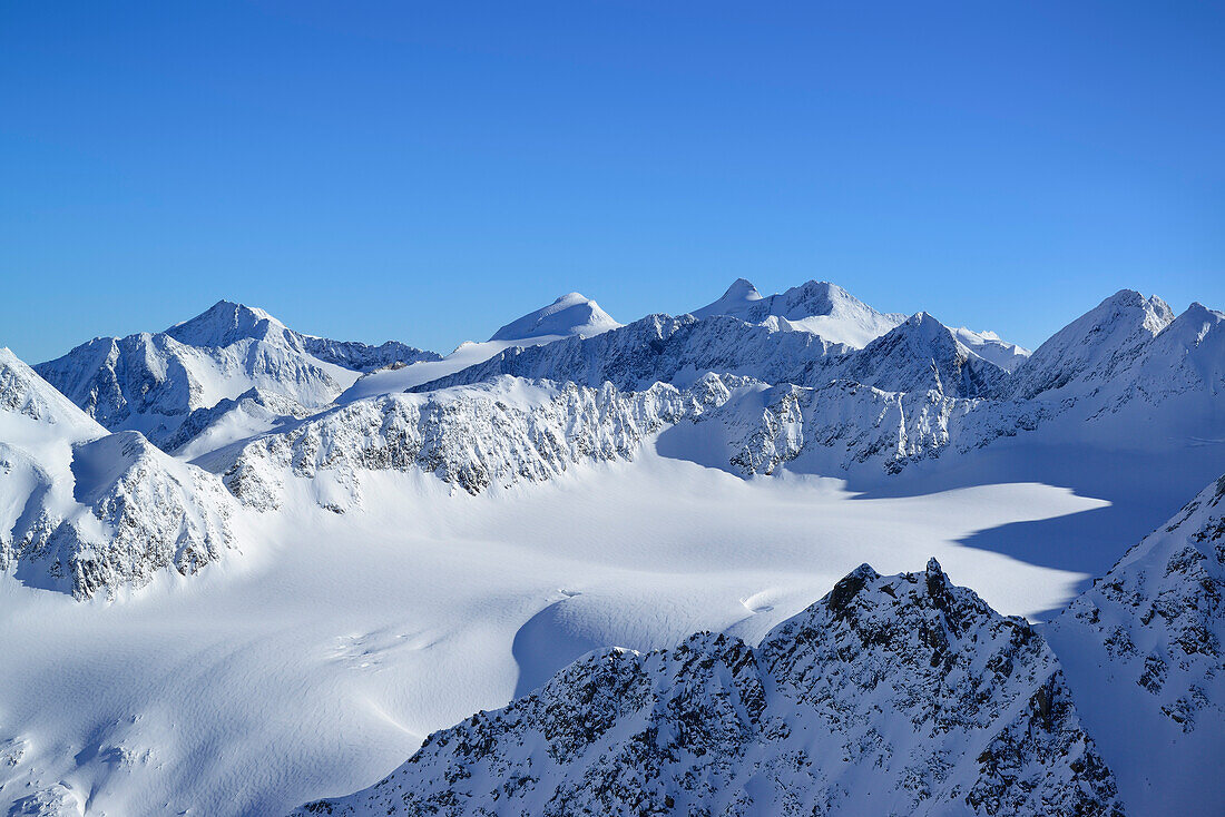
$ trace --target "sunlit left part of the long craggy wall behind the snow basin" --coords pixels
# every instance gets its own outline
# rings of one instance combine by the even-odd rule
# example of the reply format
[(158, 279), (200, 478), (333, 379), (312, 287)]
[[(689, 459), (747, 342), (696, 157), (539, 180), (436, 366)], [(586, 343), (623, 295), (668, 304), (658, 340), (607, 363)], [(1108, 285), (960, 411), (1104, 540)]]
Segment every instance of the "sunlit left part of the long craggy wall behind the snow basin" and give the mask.
[(361, 505), (363, 470), (420, 469), (479, 494), (543, 481), (578, 462), (632, 459), (648, 436), (742, 385), (710, 375), (685, 392), (657, 383), (622, 393), (503, 377), (358, 401), (200, 462), (261, 510), (281, 506), (290, 475), (309, 479), (316, 501), (337, 512)]

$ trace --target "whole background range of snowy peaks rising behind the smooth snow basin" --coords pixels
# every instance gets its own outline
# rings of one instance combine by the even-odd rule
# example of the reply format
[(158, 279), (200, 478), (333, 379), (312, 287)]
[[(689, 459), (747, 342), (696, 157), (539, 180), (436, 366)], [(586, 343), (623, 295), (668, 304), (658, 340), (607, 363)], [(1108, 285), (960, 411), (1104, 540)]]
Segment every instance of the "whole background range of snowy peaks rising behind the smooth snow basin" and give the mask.
[[(1065, 435), (1045, 435), (1052, 440), (1149, 445), (1160, 442), (1154, 430), (1188, 439), (1221, 430), (1225, 316), (1198, 304), (1174, 318), (1159, 299), (1125, 290), (1012, 374), (926, 312), (862, 348), (778, 325), (811, 311), (862, 312), (856, 304), (832, 284), (761, 298), (737, 282), (698, 310), (704, 317), (616, 326), (571, 294), (503, 327), (486, 344), (502, 352), (484, 363), (412, 394), (353, 396), (337, 407), (333, 375), (356, 374), (316, 354), (365, 366), (381, 363), (381, 353), (300, 336), (224, 301), (165, 333), (97, 341), (44, 369), (81, 369), (83, 350), (97, 344), (138, 350), (108, 354), (89, 370), (88, 390), (70, 378), (77, 385), (69, 396), (119, 427), (156, 423), (163, 448), (223, 476), (263, 511), (283, 506), (287, 485), (322, 507), (360, 508), (363, 474), (387, 469), (432, 473), (470, 494), (543, 481), (578, 463), (632, 459), (658, 435), (669, 456), (750, 476), (782, 468), (893, 474), (1047, 426)], [(981, 348), (981, 337), (968, 339)], [(262, 385), (218, 397), (250, 382)]]

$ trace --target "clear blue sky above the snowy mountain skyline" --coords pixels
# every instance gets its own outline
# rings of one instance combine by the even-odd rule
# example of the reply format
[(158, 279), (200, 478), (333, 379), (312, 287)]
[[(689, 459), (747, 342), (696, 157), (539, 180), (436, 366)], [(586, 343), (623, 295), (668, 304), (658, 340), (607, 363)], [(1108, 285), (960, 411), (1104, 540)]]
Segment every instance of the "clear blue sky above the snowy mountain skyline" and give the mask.
[(0, 345), (221, 298), (450, 350), (834, 280), (1036, 345), (1225, 307), (1219, 2), (5, 2)]

